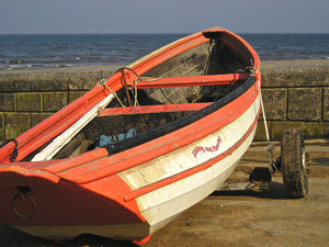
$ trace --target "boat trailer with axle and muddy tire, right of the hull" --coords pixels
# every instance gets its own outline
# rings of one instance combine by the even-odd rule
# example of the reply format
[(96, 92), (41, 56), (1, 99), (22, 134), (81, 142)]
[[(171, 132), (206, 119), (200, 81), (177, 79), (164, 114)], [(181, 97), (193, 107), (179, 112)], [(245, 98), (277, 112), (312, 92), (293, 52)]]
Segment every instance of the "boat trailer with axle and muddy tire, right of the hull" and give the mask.
[(249, 176), (235, 172), (217, 191), (266, 191), (272, 176), (282, 173), (283, 186), (288, 198), (305, 198), (308, 192), (305, 144), (297, 128), (285, 130), (281, 141), (281, 156), (273, 160), (273, 145), (265, 149), (270, 155), (268, 167), (254, 167)]

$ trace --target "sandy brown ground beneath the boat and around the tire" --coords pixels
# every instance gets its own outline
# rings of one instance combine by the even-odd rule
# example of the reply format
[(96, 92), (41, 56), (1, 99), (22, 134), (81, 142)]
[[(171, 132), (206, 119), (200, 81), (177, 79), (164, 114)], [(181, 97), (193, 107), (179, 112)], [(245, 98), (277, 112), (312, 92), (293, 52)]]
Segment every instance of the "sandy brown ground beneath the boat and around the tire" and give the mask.
[[(266, 166), (264, 143), (253, 143), (238, 170)], [(280, 146), (276, 143), (275, 156)], [(329, 141), (307, 141), (309, 193), (287, 199), (282, 178), (269, 191), (215, 192), (157, 232), (145, 247), (192, 246), (329, 246)], [(61, 245), (0, 225), (1, 247), (134, 246), (95, 236)]]

